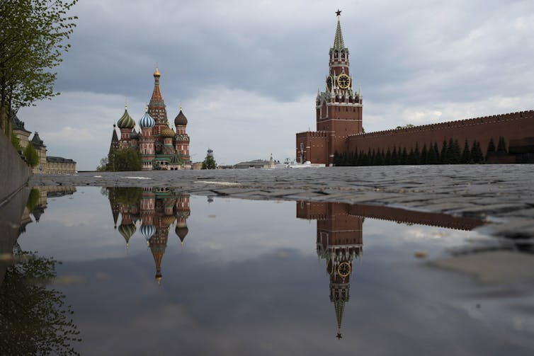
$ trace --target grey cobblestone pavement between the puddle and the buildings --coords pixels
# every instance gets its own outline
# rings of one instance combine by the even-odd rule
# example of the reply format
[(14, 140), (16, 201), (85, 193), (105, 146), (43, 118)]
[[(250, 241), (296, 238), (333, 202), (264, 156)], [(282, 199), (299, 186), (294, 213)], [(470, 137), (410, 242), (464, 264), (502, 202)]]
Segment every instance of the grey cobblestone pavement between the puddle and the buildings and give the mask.
[(84, 172), (33, 176), (30, 185), (164, 186), (194, 195), (389, 205), (499, 221), (492, 234), (534, 236), (534, 165)]

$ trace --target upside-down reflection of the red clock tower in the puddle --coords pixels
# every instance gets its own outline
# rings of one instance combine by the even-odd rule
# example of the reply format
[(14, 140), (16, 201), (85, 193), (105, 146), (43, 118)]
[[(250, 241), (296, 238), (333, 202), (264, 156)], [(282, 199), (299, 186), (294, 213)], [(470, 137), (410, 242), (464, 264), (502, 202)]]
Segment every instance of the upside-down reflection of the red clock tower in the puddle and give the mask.
[(350, 297), (353, 261), (363, 253), (363, 217), (351, 215), (349, 205), (331, 202), (297, 202), (297, 217), (317, 220), (317, 255), (325, 260), (330, 277), (330, 302), (334, 304), (337, 335)]

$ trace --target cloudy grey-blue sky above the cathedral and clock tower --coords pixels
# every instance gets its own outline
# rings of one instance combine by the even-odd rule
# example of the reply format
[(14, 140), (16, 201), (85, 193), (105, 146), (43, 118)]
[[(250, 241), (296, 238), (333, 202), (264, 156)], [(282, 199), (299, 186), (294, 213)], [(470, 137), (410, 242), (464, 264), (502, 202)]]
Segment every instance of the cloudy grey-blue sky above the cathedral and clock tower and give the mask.
[(113, 122), (139, 121), (158, 65), (169, 122), (180, 103), (193, 161), (295, 157), (315, 130), (336, 9), (366, 132), (530, 110), (534, 2), (81, 0), (52, 101), (22, 108), (51, 156), (94, 169)]

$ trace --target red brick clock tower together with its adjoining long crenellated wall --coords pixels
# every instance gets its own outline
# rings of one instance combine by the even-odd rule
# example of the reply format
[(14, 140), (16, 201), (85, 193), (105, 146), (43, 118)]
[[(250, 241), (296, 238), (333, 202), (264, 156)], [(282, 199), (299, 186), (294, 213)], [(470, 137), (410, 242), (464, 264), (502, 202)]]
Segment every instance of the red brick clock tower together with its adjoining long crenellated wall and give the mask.
[(317, 131), (296, 134), (298, 163), (334, 164), (336, 154), (385, 152), (398, 149), (421, 149), (426, 145), (450, 140), (464, 147), (475, 141), (486, 152), (490, 140), (504, 138), (506, 153), (488, 156), (489, 163), (534, 163), (534, 110), (441, 122), (431, 125), (403, 127), (363, 133), (363, 96), (360, 88), (353, 91), (349, 74), (349, 51), (343, 42), (341, 11), (337, 12), (334, 45), (329, 50), (329, 73), (324, 92), (317, 93)]

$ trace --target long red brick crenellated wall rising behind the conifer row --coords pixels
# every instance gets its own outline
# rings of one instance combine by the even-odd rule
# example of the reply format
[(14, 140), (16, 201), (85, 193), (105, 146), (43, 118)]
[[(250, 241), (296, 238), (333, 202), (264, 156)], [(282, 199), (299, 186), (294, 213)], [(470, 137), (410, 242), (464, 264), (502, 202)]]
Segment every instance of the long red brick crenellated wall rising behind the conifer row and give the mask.
[(347, 138), (347, 142), (349, 152), (379, 148), (392, 150), (393, 147), (397, 147), (397, 149), (406, 147), (409, 151), (415, 147), (416, 143), (421, 149), (424, 144), (428, 147), (429, 144), (438, 142), (438, 147), (441, 149), (443, 140), (450, 138), (457, 139), (460, 148), (462, 148), (467, 139), (470, 147), (473, 140), (477, 140), (485, 154), (489, 139), (493, 138), (496, 145), (500, 136), (504, 137), (506, 147), (508, 147), (511, 139), (533, 137), (534, 110), (369, 132), (367, 134), (353, 134)]

